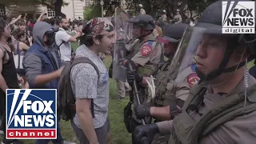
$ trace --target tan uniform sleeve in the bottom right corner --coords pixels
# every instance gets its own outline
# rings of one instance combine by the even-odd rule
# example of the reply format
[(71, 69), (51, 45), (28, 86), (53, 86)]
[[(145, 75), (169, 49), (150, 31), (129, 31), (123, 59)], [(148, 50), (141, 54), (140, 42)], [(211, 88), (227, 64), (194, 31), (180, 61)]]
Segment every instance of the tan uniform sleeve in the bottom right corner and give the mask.
[(200, 144), (255, 143), (256, 111), (218, 126), (216, 130), (202, 138)]

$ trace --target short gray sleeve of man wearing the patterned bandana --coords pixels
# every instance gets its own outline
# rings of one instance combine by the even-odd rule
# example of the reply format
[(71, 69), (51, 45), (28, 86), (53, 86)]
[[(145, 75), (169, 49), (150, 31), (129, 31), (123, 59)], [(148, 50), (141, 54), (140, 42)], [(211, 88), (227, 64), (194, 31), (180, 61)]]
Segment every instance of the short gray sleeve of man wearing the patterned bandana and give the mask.
[(98, 74), (88, 63), (80, 63), (71, 70), (71, 80), (74, 83), (76, 98), (96, 98)]

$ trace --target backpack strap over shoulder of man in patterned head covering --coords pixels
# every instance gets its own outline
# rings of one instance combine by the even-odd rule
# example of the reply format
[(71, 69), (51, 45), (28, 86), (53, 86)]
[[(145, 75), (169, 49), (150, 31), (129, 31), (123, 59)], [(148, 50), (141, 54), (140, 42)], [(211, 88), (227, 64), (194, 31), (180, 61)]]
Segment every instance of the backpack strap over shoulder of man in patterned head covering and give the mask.
[[(77, 65), (78, 63), (89, 63), (91, 66), (94, 66), (94, 70), (96, 70), (96, 72), (98, 74), (98, 81), (99, 81), (100, 74), (98, 71), (98, 67), (94, 64), (94, 62), (92, 62), (89, 58), (86, 58), (86, 57), (78, 57), (78, 58), (75, 58), (74, 61), (72, 62), (71, 66), (70, 66), (70, 70), (72, 69), (73, 66)], [(95, 116), (94, 116), (94, 99), (91, 99), (91, 101), (90, 101), (90, 110), (91, 110), (91, 114), (92, 114), (93, 118), (95, 118)]]

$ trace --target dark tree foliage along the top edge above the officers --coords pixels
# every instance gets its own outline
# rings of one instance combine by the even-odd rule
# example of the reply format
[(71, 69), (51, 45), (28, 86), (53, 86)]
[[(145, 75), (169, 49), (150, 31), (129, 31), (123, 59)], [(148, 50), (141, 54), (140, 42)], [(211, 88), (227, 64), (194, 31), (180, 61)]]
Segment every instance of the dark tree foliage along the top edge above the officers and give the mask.
[[(103, 0), (104, 9), (107, 10), (106, 16), (111, 16), (114, 13), (113, 7), (118, 7), (121, 0)], [(179, 9), (179, 13), (182, 15), (182, 19), (195, 18), (200, 16), (206, 6), (217, 0), (126, 0), (126, 9), (134, 11), (133, 14), (138, 14), (139, 8), (138, 4), (142, 4), (143, 8), (146, 10), (147, 14), (154, 17), (158, 16), (158, 12), (161, 10), (166, 10), (167, 17), (172, 19)], [(94, 0), (94, 4), (100, 6), (101, 0)]]

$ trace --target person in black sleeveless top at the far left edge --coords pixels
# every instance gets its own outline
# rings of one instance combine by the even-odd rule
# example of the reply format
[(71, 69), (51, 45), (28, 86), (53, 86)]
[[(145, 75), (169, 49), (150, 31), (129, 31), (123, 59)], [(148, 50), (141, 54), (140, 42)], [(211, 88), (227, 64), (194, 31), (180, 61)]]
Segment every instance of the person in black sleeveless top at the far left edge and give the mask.
[[(22, 143), (18, 140), (6, 139), (6, 89), (18, 89), (18, 77), (14, 65), (13, 49), (7, 42), (10, 38), (10, 27), (0, 18), (0, 115), (2, 119), (2, 127), (4, 134), (2, 137), (3, 144)], [(22, 81), (22, 79), (20, 79)]]

